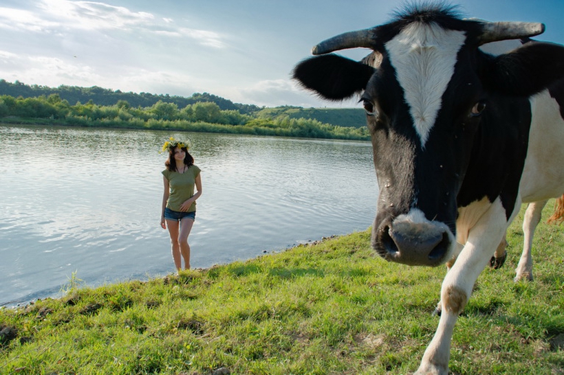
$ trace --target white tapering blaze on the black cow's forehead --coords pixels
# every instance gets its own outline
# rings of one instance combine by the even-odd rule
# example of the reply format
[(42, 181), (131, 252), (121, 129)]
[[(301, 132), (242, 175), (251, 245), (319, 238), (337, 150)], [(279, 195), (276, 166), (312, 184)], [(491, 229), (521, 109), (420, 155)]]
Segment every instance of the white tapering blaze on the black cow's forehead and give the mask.
[(422, 147), (435, 124), (442, 95), (451, 81), (457, 53), (465, 39), (462, 31), (416, 22), (385, 45)]

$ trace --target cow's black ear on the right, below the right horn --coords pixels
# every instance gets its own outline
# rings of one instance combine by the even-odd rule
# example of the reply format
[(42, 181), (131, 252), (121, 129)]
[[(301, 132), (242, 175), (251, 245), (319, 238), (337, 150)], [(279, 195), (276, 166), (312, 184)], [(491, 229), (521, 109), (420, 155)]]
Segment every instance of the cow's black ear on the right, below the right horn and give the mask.
[(530, 96), (564, 78), (564, 47), (530, 42), (496, 56), (484, 69), (484, 85), (507, 95)]

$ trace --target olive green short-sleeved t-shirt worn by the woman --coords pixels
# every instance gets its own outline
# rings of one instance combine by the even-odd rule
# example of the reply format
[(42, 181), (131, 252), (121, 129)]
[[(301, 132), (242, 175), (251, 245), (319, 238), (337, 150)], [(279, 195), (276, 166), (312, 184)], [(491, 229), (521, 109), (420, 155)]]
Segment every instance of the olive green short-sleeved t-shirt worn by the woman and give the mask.
[[(190, 166), (184, 173), (171, 172), (170, 170), (163, 170), (164, 178), (169, 180), (169, 200), (166, 201), (166, 207), (173, 211), (180, 212), (180, 205), (186, 202), (194, 195), (194, 185), (196, 177), (200, 169), (197, 166)], [(188, 212), (196, 210), (196, 203), (192, 203)]]

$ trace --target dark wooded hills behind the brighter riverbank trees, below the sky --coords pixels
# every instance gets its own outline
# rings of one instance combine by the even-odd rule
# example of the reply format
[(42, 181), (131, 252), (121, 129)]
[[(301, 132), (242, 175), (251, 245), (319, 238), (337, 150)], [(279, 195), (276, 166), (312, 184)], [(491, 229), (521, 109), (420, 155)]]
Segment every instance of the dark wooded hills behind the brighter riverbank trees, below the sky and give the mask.
[(36, 98), (41, 95), (49, 96), (57, 94), (63, 100), (67, 100), (69, 104), (80, 102), (85, 104), (90, 100), (98, 106), (113, 106), (120, 101), (126, 101), (132, 107), (149, 107), (159, 101), (173, 103), (179, 109), (184, 108), (188, 104), (197, 102), (213, 102), (223, 111), (233, 110), (239, 111), (244, 115), (253, 115), (259, 118), (276, 119), (280, 117), (290, 117), (292, 119), (312, 119), (318, 120), (323, 124), (331, 124), (336, 126), (347, 126), (359, 128), (365, 126), (365, 111), (362, 109), (304, 109), (296, 106), (280, 106), (275, 108), (261, 108), (253, 104), (234, 103), (230, 100), (221, 98), (210, 93), (194, 93), (191, 97), (186, 98), (176, 95), (155, 95), (151, 93), (133, 93), (122, 92), (120, 90), (104, 89), (102, 87), (78, 87), (61, 85), (59, 87), (39, 86), (37, 84), (24, 84), (15, 81), (14, 83), (0, 79), (0, 95), (10, 95), (14, 98), (19, 96), (23, 98)]

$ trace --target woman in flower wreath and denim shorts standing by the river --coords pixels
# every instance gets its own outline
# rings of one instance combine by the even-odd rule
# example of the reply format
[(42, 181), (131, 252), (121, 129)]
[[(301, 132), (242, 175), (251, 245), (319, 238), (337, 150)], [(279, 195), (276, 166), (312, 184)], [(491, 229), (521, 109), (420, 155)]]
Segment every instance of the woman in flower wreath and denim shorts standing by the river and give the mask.
[[(196, 218), (196, 200), (202, 195), (200, 169), (194, 165), (194, 158), (188, 153), (188, 144), (173, 137), (164, 142), (162, 150), (169, 151), (169, 158), (162, 171), (164, 193), (160, 226), (169, 227), (174, 265), (177, 271), (190, 269), (190, 245), (188, 235)], [(194, 192), (194, 187), (196, 192)]]

